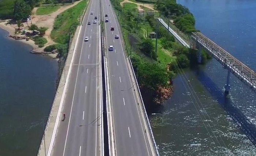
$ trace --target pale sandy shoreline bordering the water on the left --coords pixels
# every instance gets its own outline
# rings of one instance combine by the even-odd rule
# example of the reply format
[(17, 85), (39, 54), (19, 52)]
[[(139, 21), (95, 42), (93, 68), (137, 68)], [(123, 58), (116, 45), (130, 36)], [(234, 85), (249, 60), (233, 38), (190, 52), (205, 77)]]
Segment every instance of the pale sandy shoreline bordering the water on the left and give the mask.
[[(10, 35), (16, 35), (15, 34), (15, 28), (13, 28), (9, 25), (5, 25), (5, 23), (7, 23), (7, 22), (0, 22), (0, 29), (3, 29), (4, 31), (8, 32), (8, 36), (7, 36), (8, 39), (15, 40), (15, 39), (12, 39), (10, 37)], [(48, 56), (52, 57), (53, 59), (56, 59), (57, 54), (43, 54), (43, 53), (41, 53), (41, 52), (44, 52), (44, 49), (39, 48), (38, 45), (36, 45), (33, 40), (28, 40), (28, 41), (26, 41), (26, 40), (15, 40), (15, 41), (19, 41), (19, 42), (22, 42), (24, 44), (30, 45), (31, 46), (30, 52), (31, 51), (37, 51), (36, 54), (48, 55)]]

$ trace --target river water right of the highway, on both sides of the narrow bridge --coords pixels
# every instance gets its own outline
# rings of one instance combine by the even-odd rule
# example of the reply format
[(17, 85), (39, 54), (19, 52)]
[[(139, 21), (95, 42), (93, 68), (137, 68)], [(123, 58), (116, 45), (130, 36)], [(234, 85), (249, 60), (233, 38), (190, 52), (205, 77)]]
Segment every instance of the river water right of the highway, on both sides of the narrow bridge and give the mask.
[[(256, 70), (255, 0), (177, 3), (189, 8), (204, 35)], [(231, 75), (225, 98), (226, 75), (212, 59), (174, 79), (172, 97), (154, 112), (161, 114), (150, 115), (161, 156), (256, 155), (256, 94)]]

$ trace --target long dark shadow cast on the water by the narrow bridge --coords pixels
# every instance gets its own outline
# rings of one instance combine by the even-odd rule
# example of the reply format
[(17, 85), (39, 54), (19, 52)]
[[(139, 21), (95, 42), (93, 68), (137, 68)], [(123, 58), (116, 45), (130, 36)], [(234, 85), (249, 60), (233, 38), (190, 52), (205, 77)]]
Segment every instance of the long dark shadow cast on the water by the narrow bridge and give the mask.
[(224, 91), (219, 89), (217, 85), (207, 76), (206, 72), (200, 70), (199, 67), (192, 69), (195, 72), (197, 79), (203, 84), (211, 96), (218, 101), (222, 108), (234, 120), (234, 123), (241, 129), (242, 132), (248, 137), (252, 144), (256, 147), (256, 127), (247, 117), (242, 113), (239, 108), (234, 105), (229, 96), (224, 95)]

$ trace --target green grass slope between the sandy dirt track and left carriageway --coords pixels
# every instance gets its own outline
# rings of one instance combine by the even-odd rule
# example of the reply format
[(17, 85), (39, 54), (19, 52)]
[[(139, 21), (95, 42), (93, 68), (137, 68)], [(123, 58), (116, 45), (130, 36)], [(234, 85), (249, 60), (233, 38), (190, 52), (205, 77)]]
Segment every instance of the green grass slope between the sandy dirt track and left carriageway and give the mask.
[(56, 17), (51, 32), (53, 41), (60, 44), (67, 44), (69, 41), (69, 34), (74, 34), (79, 24), (79, 17), (83, 14), (86, 8), (87, 0), (79, 2), (72, 8), (67, 9)]

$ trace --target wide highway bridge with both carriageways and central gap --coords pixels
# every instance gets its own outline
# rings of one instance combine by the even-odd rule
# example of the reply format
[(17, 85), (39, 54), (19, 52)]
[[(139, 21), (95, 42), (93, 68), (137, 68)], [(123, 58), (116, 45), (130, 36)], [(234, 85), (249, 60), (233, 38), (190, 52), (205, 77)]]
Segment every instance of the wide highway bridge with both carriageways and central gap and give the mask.
[(38, 156), (159, 155), (109, 0), (89, 1), (67, 66), (56, 120), (48, 119), (54, 126), (46, 128)]

